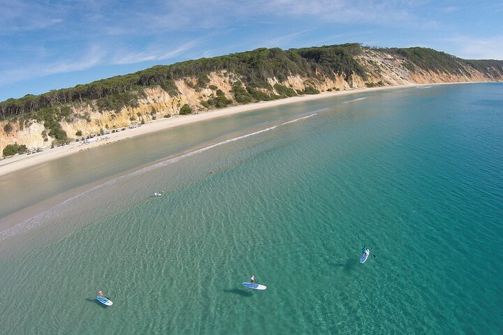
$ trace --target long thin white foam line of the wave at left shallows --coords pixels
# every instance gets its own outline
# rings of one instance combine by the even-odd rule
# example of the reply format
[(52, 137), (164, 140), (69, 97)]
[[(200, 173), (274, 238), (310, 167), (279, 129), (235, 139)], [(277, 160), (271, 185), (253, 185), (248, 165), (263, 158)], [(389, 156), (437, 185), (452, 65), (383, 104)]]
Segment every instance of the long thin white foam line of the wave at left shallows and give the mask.
[(64, 200), (63, 202), (61, 202), (59, 204), (56, 204), (55, 206), (51, 207), (50, 209), (47, 209), (47, 210), (43, 211), (42, 213), (36, 214), (36, 216), (34, 216), (32, 218), (28, 218), (27, 220), (22, 221), (21, 223), (18, 223), (17, 225), (14, 225), (11, 228), (3, 230), (2, 232), (0, 232), (0, 241), (2, 241), (4, 239), (8, 239), (9, 237), (13, 237), (15, 234), (19, 234), (20, 232), (26, 232), (27, 230), (30, 230), (31, 228), (35, 228), (38, 225), (42, 225), (45, 221), (50, 220), (50, 218), (52, 218), (54, 216), (59, 216), (61, 214), (61, 212), (65, 211), (65, 209), (66, 209), (65, 208), (65, 204), (71, 204), (71, 202), (78, 201), (81, 197), (83, 197), (85, 195), (89, 195), (89, 193), (92, 193), (93, 191), (97, 191), (97, 190), (99, 190), (101, 188), (112, 186), (113, 184), (117, 183), (117, 181), (120, 181), (122, 179), (128, 179), (128, 178), (131, 178), (131, 177), (136, 177), (139, 174), (143, 174), (145, 172), (156, 170), (158, 168), (163, 168), (163, 167), (165, 167), (167, 165), (170, 165), (172, 163), (176, 163), (178, 161), (181, 161), (182, 159), (187, 158), (189, 156), (194, 156), (195, 154), (200, 154), (203, 151), (207, 151), (207, 150), (213, 149), (214, 147), (219, 147), (221, 145), (224, 145), (224, 144), (227, 144), (227, 143), (231, 143), (231, 142), (235, 142), (235, 141), (238, 141), (238, 140), (242, 140), (242, 139), (250, 137), (250, 136), (254, 136), (254, 135), (261, 134), (261, 133), (265, 133), (267, 131), (272, 131), (273, 129), (277, 128), (278, 126), (284, 126), (286, 124), (292, 124), (293, 122), (297, 122), (297, 121), (301, 121), (301, 120), (304, 120), (304, 119), (308, 119), (309, 117), (314, 117), (314, 115), (316, 115), (316, 114), (317, 113), (309, 114), (309, 115), (307, 115), (305, 117), (299, 117), (298, 119), (293, 119), (291, 121), (286, 121), (283, 124), (279, 124), (277, 126), (272, 126), (272, 127), (269, 127), (269, 128), (265, 128), (265, 129), (262, 129), (260, 131), (255, 131), (254, 133), (249, 133), (249, 134), (241, 135), (241, 136), (234, 137), (234, 138), (231, 138), (229, 140), (225, 140), (225, 141), (218, 142), (218, 143), (215, 143), (215, 144), (210, 144), (207, 147), (203, 147), (201, 149), (190, 151), (187, 154), (182, 154), (180, 156), (176, 156), (176, 157), (173, 157), (173, 158), (168, 158), (166, 161), (161, 161), (161, 162), (156, 163), (154, 165), (150, 165), (150, 166), (147, 166), (147, 167), (142, 168), (140, 170), (136, 170), (136, 171), (133, 171), (133, 172), (131, 172), (129, 174), (124, 174), (123, 176), (119, 176), (119, 177), (116, 177), (115, 179), (106, 181), (105, 183), (103, 183), (101, 185), (94, 186), (93, 188), (90, 188), (87, 191), (84, 191), (84, 192), (82, 192), (82, 193), (80, 193), (78, 195), (74, 195), (73, 197), (68, 198), (68, 199)]

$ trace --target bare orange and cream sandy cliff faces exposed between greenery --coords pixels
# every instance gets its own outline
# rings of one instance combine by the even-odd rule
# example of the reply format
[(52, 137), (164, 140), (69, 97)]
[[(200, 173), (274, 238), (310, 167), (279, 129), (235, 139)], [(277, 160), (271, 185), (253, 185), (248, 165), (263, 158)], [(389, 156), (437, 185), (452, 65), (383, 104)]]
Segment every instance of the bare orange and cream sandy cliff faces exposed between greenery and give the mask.
[[(286, 80), (277, 80), (276, 77), (268, 78), (273, 87), (281, 84), (284, 87), (302, 91), (306, 87), (314, 87), (319, 91), (347, 90), (364, 88), (367, 86), (400, 86), (406, 84), (429, 84), (442, 82), (489, 82), (502, 81), (503, 77), (485, 75), (474, 68), (464, 66), (465, 73), (447, 73), (426, 70), (411, 65), (406, 59), (395, 54), (388, 54), (379, 50), (363, 49), (363, 52), (355, 57), (358, 63), (365, 68), (367, 77), (365, 80), (359, 75), (352, 74), (345, 78), (343, 75), (335, 75), (332, 78), (326, 75), (302, 77), (289, 75)], [(196, 77), (185, 77), (175, 80), (177, 94), (170, 95), (161, 87), (148, 87), (144, 94), (138, 98), (136, 107), (122, 107), (120, 110), (98, 111), (96, 103), (87, 103), (71, 106), (71, 116), (60, 122), (61, 128), (69, 138), (85, 137), (100, 133), (101, 131), (123, 128), (131, 124), (152, 121), (176, 115), (180, 108), (187, 104), (194, 112), (206, 112), (202, 102), (217, 96), (217, 90), (221, 90), (226, 98), (233, 100), (233, 84), (240, 79), (239, 75), (226, 70), (212, 72), (208, 75), (209, 82), (206, 87), (197, 86)], [(275, 89), (259, 89), (268, 94), (279, 94)], [(235, 101), (234, 101), (235, 103)], [(236, 104), (236, 103), (235, 103)], [(10, 123), (10, 131), (5, 130), (8, 121), (0, 121), (0, 153), (8, 144), (24, 144), (28, 149), (50, 147), (54, 137), (48, 135), (40, 121), (31, 120), (23, 125)], [(45, 131), (45, 133), (43, 133)], [(80, 131), (82, 135), (75, 135)]]

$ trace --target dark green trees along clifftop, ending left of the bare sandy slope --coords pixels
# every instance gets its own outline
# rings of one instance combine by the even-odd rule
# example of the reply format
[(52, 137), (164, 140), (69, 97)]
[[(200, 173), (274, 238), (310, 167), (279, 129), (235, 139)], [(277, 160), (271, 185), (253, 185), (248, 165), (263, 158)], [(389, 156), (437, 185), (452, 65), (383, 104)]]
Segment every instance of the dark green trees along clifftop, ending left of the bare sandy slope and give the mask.
[[(269, 100), (279, 96), (262, 94), (257, 89), (272, 90), (268, 78), (285, 80), (289, 75), (333, 78), (334, 74), (349, 77), (352, 73), (365, 77), (365, 70), (354, 59), (361, 52), (360, 45), (349, 43), (324, 47), (281, 50), (260, 48), (209, 59), (183, 61), (168, 66), (154, 66), (146, 70), (118, 75), (68, 89), (52, 90), (45, 94), (28, 94), (22, 98), (10, 98), (0, 103), (0, 117), (6, 119), (24, 113), (33, 113), (43, 108), (54, 108), (96, 101), (99, 110), (119, 110), (124, 106), (136, 106), (143, 89), (159, 85), (171, 96), (179, 92), (175, 80), (196, 77), (196, 89), (207, 87), (207, 75), (214, 71), (227, 70), (240, 76), (253, 101)], [(309, 92), (307, 92), (309, 93)], [(239, 102), (239, 101), (238, 101)]]

